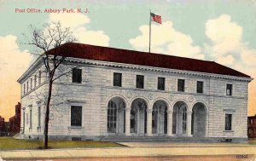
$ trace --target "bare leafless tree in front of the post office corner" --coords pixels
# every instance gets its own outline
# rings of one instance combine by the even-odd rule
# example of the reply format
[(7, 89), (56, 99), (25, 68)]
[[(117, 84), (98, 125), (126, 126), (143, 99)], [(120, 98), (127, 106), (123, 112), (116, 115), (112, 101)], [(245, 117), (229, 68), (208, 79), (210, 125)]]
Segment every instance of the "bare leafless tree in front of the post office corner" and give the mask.
[[(73, 43), (76, 39), (73, 37), (69, 27), (61, 27), (60, 22), (51, 22), (43, 25), (43, 28), (30, 26), (32, 37), (24, 36), (27, 39), (27, 43), (36, 47), (37, 53), (40, 52), (44, 60), (44, 67), (46, 69), (48, 91), (46, 98), (45, 114), (44, 114), (44, 149), (48, 148), (48, 129), (49, 129), (49, 106), (52, 98), (53, 83), (56, 79), (65, 75), (66, 72), (55, 77), (56, 69), (66, 59), (61, 53), (68, 52), (68, 49), (61, 49), (61, 45), (64, 43)], [(39, 50), (38, 50), (39, 49)], [(36, 54), (38, 55), (38, 54)]]

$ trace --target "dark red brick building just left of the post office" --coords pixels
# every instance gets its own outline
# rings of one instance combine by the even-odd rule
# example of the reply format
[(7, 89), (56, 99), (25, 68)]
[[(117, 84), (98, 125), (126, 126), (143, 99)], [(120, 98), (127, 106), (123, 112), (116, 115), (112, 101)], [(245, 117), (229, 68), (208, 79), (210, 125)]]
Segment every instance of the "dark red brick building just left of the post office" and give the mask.
[(9, 135), (20, 132), (20, 102), (15, 106), (15, 116), (9, 118)]

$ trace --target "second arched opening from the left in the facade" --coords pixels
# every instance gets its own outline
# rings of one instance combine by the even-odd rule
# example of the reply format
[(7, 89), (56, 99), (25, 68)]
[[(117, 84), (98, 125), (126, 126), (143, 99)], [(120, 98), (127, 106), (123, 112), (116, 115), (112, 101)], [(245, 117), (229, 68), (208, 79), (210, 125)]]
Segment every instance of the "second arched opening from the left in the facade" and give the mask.
[(137, 135), (147, 133), (147, 103), (143, 99), (136, 99), (131, 103), (130, 132)]

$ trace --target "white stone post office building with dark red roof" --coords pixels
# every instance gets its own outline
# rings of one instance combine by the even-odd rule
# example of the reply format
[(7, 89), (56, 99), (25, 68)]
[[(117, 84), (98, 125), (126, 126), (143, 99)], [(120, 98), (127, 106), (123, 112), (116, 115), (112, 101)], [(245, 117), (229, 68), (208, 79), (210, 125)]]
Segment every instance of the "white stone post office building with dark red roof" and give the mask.
[[(212, 61), (67, 43), (56, 75), (49, 137), (247, 140), (246, 74)], [(72, 51), (72, 52), (70, 52)], [(50, 55), (49, 51), (49, 55)], [(43, 134), (47, 81), (38, 58), (20, 77), (23, 137)]]

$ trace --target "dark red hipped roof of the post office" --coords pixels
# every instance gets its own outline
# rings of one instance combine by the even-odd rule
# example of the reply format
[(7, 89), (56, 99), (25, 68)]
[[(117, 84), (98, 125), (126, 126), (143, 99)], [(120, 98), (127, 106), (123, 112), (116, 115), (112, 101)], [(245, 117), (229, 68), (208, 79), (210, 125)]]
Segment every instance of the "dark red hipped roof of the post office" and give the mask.
[(154, 66), (191, 72), (207, 72), (250, 78), (250, 76), (242, 72), (220, 65), (214, 61), (196, 60), (172, 55), (160, 55), (127, 49), (114, 49), (84, 43), (65, 43), (55, 51), (57, 52), (54, 52), (54, 49), (51, 49), (47, 54), (86, 60), (102, 60), (139, 66)]

